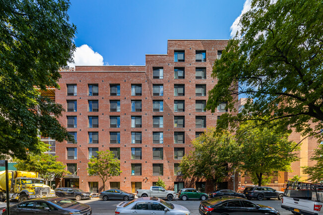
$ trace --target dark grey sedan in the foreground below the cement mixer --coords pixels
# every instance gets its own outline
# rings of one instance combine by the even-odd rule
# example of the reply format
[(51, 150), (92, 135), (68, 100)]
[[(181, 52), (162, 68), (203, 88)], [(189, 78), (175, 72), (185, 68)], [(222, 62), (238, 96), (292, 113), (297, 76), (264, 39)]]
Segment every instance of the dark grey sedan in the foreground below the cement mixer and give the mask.
[[(92, 209), (88, 205), (74, 200), (60, 197), (32, 199), (10, 206), (10, 215), (62, 215), (78, 214), (91, 215)], [(6, 211), (2, 215), (7, 215)]]

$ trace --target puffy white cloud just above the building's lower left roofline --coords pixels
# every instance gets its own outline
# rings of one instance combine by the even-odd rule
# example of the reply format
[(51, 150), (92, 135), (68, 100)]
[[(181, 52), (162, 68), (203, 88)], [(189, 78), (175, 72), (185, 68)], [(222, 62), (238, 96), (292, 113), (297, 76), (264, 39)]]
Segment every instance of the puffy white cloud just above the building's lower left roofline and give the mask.
[(93, 49), (86, 44), (76, 48), (73, 59), (74, 64), (68, 63), (69, 67), (104, 65), (102, 55), (94, 52)]

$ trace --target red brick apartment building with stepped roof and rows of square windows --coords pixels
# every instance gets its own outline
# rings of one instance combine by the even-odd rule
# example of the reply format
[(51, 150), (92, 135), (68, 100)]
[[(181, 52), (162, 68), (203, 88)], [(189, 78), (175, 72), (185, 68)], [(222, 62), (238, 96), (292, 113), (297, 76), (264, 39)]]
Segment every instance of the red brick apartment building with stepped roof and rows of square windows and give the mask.
[[(204, 112), (214, 61), (228, 40), (168, 40), (167, 54), (146, 55), (146, 66), (77, 66), (62, 71), (55, 100), (67, 112), (59, 119), (77, 144), (57, 143), (58, 160), (74, 175), (61, 186), (99, 192), (98, 176), (87, 174), (96, 150), (111, 150), (122, 173), (105, 184), (129, 192), (149, 189), (158, 177), (166, 188), (210, 192), (203, 179), (183, 180), (178, 163), (206, 127), (216, 125), (226, 110)], [(237, 182), (238, 183), (238, 182)], [(229, 188), (232, 183), (229, 183)]]

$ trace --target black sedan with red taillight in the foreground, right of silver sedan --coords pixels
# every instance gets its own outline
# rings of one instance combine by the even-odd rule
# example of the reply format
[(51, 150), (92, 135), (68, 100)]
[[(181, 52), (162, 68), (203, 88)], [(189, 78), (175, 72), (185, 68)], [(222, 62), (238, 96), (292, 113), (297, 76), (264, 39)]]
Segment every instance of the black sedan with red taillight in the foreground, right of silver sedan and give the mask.
[(200, 215), (280, 215), (271, 207), (257, 205), (240, 197), (215, 197), (202, 201), (199, 207)]

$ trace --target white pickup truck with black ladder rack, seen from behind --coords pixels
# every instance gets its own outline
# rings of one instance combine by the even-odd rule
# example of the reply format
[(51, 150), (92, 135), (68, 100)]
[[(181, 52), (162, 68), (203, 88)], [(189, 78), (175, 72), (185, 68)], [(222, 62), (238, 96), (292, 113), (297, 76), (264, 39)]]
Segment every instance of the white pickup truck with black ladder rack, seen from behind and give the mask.
[(323, 215), (323, 184), (288, 181), (282, 208), (295, 215)]

